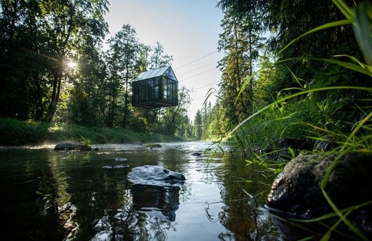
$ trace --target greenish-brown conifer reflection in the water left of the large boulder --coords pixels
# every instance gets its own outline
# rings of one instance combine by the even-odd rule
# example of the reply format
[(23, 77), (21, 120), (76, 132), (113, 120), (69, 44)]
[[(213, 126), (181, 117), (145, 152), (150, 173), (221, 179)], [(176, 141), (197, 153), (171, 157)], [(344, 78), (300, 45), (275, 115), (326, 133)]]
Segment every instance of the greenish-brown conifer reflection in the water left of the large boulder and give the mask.
[[(225, 169), (228, 171), (225, 172)], [(224, 205), (215, 219), (229, 231), (221, 232), (218, 235), (220, 240), (277, 240), (276, 228), (268, 220), (267, 214), (260, 211), (266, 197), (266, 192), (262, 190), (267, 189), (268, 192), (268, 187), (258, 183), (247, 183), (240, 179), (255, 179), (262, 183), (269, 183), (271, 180), (266, 180), (267, 176), (269, 173), (261, 175), (261, 172), (256, 172), (256, 169), (250, 170), (244, 167), (244, 162), (241, 160), (224, 162), (224, 167), (219, 173), (223, 183), (220, 186), (220, 194)], [(247, 193), (260, 194), (253, 198)], [(206, 213), (208, 215), (208, 208)]]

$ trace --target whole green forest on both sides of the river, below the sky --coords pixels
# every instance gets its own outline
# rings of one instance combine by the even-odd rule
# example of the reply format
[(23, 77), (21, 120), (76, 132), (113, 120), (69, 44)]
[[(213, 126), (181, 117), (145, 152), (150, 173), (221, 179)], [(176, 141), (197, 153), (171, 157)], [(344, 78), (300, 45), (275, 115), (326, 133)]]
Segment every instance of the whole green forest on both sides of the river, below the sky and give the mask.
[(105, 40), (108, 4), (0, 1), (3, 144), (21, 121), (232, 140), (238, 149), (304, 137), (370, 149), (368, 1), (218, 2), (224, 15), (216, 43), (224, 54), (217, 66), (222, 77), (219, 89), (206, 93), (218, 100), (207, 98), (193, 120), (185, 86), (178, 90), (178, 106), (131, 105), (131, 81), (171, 65), (173, 57), (161, 43), (142, 44), (130, 24)]

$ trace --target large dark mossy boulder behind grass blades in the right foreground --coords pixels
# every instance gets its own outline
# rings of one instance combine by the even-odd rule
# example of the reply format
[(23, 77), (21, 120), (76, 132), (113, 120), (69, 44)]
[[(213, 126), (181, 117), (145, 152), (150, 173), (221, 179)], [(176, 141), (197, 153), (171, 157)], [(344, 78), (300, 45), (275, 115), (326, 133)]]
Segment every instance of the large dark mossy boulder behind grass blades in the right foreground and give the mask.
[[(338, 154), (300, 156), (289, 162), (279, 174), (271, 187), (266, 200), (270, 213), (282, 218), (313, 219), (334, 210), (326, 201), (322, 191), (323, 177), (334, 163)], [(372, 157), (363, 153), (348, 153), (341, 157), (334, 166), (325, 186), (325, 191), (339, 210), (372, 200)], [(372, 204), (353, 210), (347, 219), (372, 240)], [(328, 228), (313, 222), (305, 225), (298, 222), (283, 221), (272, 217), (289, 240), (297, 240), (310, 235), (323, 235)], [(329, 226), (338, 221), (338, 217), (322, 220)], [(293, 222), (292, 222), (293, 223)], [(308, 231), (305, 231), (308, 229)], [(343, 223), (337, 230), (354, 235)], [(345, 234), (345, 233), (344, 233)], [(344, 239), (345, 235), (332, 237)]]

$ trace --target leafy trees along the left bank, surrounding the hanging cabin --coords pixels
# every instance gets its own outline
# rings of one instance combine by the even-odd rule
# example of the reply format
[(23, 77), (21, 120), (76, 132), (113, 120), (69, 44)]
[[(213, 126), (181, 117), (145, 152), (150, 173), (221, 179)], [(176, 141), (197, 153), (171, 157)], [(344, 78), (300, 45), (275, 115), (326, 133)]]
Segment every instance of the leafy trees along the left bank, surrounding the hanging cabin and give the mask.
[(187, 98), (165, 111), (131, 106), (131, 81), (173, 58), (159, 42), (141, 44), (129, 24), (104, 51), (108, 1), (13, 2), (0, 2), (0, 117), (186, 135)]

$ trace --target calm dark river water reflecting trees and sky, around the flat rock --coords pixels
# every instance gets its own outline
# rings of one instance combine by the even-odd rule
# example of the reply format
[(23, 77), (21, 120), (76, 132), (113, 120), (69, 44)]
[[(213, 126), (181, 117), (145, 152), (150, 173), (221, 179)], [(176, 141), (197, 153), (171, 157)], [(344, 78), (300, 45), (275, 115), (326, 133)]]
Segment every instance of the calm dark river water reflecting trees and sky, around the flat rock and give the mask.
[[(206, 142), (161, 145), (98, 145), (91, 152), (1, 147), (0, 239), (282, 239), (263, 208), (272, 172), (246, 167), (228, 148), (206, 151)], [(143, 165), (187, 180), (180, 187), (132, 185), (128, 172)]]

